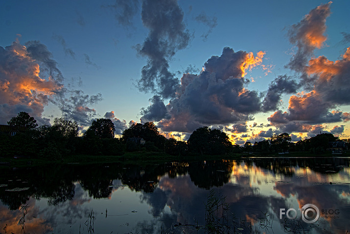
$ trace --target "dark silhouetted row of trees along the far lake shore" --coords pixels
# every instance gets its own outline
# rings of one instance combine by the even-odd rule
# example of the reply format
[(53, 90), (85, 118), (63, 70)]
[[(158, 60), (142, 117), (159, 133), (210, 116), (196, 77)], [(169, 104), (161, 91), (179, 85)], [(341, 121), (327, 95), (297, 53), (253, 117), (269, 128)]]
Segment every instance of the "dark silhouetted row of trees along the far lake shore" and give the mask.
[[(243, 146), (233, 145), (227, 133), (201, 127), (192, 132), (187, 142), (165, 138), (153, 122), (136, 123), (124, 130), (121, 138), (115, 138), (115, 126), (110, 119), (100, 118), (92, 122), (83, 136), (78, 136), (77, 122), (55, 118), (53, 125), (38, 126), (26, 112), (12, 117), (8, 125), (26, 130), (14, 136), (0, 134), (1, 156), (37, 156), (59, 159), (69, 155), (123, 155), (125, 152), (164, 152), (173, 156), (226, 155), (254, 152), (269, 155), (279, 152), (325, 153), (328, 142), (341, 141), (331, 133), (322, 133), (296, 143), (288, 133), (273, 135), (267, 140)], [(140, 140), (144, 140), (141, 142)], [(343, 140), (348, 144), (350, 139)]]

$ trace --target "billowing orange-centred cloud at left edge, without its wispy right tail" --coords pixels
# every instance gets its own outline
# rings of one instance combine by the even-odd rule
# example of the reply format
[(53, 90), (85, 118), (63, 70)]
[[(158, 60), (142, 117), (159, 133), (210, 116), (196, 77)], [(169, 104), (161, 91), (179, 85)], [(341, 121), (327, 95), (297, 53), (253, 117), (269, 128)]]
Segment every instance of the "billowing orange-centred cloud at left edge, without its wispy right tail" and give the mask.
[[(62, 74), (56, 68), (51, 53), (46, 47), (35, 49), (14, 42), (5, 49), (0, 47), (0, 121), (6, 123), (20, 111), (26, 111), (40, 123), (46, 123), (41, 116), (49, 97), (63, 88)], [(39, 66), (36, 59), (42, 64)], [(43, 78), (43, 73), (48, 74)], [(41, 73), (41, 77), (39, 77)]]

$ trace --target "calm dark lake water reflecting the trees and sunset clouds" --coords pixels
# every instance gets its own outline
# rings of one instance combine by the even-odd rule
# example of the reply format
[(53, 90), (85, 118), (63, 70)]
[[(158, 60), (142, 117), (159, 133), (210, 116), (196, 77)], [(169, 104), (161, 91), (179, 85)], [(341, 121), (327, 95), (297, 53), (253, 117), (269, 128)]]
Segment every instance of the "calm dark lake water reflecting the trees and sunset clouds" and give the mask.
[[(214, 233), (210, 227), (218, 233), (345, 234), (349, 162), (247, 158), (2, 168), (0, 234)], [(306, 204), (319, 208), (316, 223), (305, 223), (300, 211), (295, 219), (280, 219), (281, 208)]]

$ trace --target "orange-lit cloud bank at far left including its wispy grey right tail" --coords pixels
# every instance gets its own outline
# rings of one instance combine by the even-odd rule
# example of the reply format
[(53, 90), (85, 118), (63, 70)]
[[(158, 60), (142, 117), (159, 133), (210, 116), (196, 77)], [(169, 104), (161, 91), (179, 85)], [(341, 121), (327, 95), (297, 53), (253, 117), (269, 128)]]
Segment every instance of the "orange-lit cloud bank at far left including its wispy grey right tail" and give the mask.
[(0, 122), (25, 111), (39, 123), (48, 124), (42, 113), (51, 102), (64, 117), (88, 124), (95, 111), (87, 105), (100, 101), (101, 94), (89, 96), (67, 89), (63, 81), (51, 52), (39, 41), (29, 41), (25, 46), (16, 41), (0, 47)]

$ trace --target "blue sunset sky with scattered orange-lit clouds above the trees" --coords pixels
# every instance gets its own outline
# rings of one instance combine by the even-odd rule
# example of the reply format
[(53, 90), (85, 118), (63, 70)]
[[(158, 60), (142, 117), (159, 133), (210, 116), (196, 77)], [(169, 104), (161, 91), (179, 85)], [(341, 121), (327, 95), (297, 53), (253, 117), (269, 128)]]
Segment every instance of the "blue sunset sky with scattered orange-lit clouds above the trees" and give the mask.
[(0, 124), (350, 138), (348, 0), (0, 0)]

